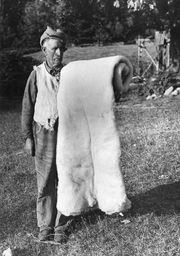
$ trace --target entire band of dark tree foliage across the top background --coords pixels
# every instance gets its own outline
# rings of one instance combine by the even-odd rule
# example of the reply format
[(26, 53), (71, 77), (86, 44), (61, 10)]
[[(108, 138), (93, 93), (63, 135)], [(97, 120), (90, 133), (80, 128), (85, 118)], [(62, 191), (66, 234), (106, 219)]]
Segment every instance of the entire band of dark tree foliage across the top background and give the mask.
[(179, 53), (179, 0), (116, 0), (114, 5), (109, 0), (1, 2), (1, 48), (37, 47), (47, 25), (62, 28), (75, 44), (126, 42), (138, 34), (147, 36), (152, 28), (170, 28), (176, 49), (172, 55)]

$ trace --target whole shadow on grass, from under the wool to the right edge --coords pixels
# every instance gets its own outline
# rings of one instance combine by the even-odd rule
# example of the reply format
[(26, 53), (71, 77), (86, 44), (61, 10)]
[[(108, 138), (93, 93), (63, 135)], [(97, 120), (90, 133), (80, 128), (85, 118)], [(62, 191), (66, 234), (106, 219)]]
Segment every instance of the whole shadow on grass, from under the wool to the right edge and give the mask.
[[(162, 184), (151, 188), (143, 193), (128, 198), (132, 202), (131, 209), (124, 213), (124, 218), (136, 218), (144, 214), (154, 214), (157, 217), (163, 215), (173, 215), (180, 213), (180, 181), (171, 184)], [(74, 223), (80, 226), (86, 224), (96, 224), (100, 219), (103, 220), (106, 214), (101, 210), (85, 211), (81, 215), (74, 217)], [(117, 216), (109, 216), (117, 218)], [(119, 215), (119, 218), (122, 218)]]

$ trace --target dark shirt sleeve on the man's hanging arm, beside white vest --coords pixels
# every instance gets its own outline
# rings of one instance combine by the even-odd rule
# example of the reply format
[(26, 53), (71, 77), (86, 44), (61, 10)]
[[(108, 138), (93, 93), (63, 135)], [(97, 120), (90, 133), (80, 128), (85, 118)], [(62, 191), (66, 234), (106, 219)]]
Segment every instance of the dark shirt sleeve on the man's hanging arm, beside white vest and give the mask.
[(27, 80), (22, 102), (21, 133), (25, 140), (33, 138), (33, 116), (36, 96), (36, 70), (33, 70)]

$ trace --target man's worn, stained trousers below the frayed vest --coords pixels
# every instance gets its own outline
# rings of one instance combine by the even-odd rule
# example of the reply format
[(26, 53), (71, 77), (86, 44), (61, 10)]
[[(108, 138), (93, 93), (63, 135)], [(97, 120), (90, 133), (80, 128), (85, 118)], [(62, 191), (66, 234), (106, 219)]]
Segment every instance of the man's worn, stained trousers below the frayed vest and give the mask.
[(51, 229), (65, 230), (69, 227), (72, 216), (61, 214), (56, 208), (57, 203), (57, 144), (58, 122), (54, 131), (40, 127), (36, 122), (33, 125), (35, 141), (35, 165), (37, 171), (37, 221), (40, 231)]

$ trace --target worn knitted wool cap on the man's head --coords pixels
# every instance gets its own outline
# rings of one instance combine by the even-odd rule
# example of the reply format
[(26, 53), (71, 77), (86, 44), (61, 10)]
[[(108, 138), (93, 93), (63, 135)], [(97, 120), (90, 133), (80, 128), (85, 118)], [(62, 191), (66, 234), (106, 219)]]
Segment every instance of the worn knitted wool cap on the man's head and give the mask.
[(41, 36), (40, 39), (40, 45), (43, 46), (43, 41), (46, 38), (54, 38), (54, 39), (58, 39), (61, 42), (63, 42), (64, 44), (66, 44), (66, 40), (67, 40), (67, 36), (65, 35), (65, 33), (61, 30), (61, 29), (52, 29), (51, 27), (47, 26), (46, 31), (44, 31), (43, 35)]

